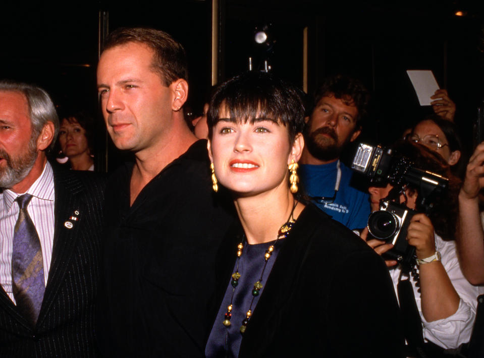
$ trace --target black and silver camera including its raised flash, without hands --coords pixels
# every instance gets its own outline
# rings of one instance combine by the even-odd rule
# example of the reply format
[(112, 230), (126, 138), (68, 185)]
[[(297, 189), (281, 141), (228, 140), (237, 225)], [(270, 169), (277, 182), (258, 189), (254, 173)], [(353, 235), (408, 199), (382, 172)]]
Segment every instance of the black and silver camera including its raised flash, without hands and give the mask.
[[(397, 260), (407, 268), (411, 267), (415, 248), (408, 245), (406, 236), (410, 220), (417, 211), (396, 202), (399, 201), (399, 193), (404, 193), (409, 184), (417, 188), (418, 204), (428, 214), (432, 211), (435, 195), (447, 189), (449, 180), (442, 175), (414, 167), (411, 160), (395, 155), (391, 149), (364, 143), (359, 144), (351, 168), (369, 177), (374, 185), (384, 186), (389, 183), (396, 189), (380, 201), (380, 210), (370, 214), (368, 231), (375, 238), (394, 245), (383, 257)], [(390, 198), (391, 195), (394, 197)]]

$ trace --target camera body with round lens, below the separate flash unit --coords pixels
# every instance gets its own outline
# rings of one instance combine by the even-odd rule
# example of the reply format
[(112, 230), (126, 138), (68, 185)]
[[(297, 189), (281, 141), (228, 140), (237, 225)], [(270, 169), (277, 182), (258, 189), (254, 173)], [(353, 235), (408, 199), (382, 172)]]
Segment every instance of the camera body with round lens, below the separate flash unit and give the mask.
[(378, 240), (393, 244), (393, 248), (382, 255), (386, 260), (396, 260), (410, 265), (415, 248), (407, 243), (407, 229), (412, 216), (417, 212), (405, 205), (386, 200), (380, 210), (373, 211), (368, 217), (368, 231)]

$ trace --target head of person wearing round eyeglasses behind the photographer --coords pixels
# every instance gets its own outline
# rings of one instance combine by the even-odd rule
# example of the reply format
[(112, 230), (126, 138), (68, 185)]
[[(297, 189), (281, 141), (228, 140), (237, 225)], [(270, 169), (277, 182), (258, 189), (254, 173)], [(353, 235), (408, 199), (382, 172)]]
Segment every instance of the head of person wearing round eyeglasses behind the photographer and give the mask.
[(452, 173), (462, 177), (465, 160), (462, 160), (462, 144), (452, 122), (437, 114), (428, 115), (405, 138), (439, 153), (450, 165)]

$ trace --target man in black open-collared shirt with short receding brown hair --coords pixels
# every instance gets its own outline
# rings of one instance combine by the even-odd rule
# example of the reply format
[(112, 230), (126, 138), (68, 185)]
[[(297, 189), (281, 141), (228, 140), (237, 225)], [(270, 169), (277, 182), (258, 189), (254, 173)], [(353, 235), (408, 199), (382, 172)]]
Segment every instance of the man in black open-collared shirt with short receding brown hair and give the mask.
[(104, 353), (202, 357), (214, 259), (232, 220), (211, 191), (206, 141), (183, 117), (185, 52), (163, 31), (116, 30), (97, 82), (107, 131), (134, 154), (106, 191)]

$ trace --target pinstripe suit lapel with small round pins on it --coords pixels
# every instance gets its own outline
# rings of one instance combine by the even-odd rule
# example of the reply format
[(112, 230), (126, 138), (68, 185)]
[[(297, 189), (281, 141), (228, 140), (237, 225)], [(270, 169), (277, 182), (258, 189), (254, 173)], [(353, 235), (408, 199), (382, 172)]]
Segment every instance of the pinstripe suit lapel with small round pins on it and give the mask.
[[(78, 193), (82, 187), (75, 176), (70, 173), (54, 171), (55, 187), (55, 229), (52, 246), (52, 259), (50, 262), (47, 285), (45, 287), (42, 308), (40, 309), (37, 327), (46, 317), (51, 305), (64, 280), (66, 266), (76, 246), (79, 237), (80, 222), (85, 212)], [(77, 212), (76, 212), (77, 211)], [(77, 217), (77, 220), (71, 217)]]

